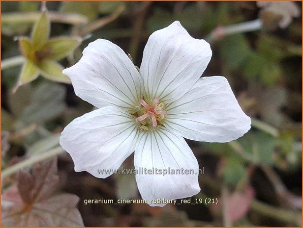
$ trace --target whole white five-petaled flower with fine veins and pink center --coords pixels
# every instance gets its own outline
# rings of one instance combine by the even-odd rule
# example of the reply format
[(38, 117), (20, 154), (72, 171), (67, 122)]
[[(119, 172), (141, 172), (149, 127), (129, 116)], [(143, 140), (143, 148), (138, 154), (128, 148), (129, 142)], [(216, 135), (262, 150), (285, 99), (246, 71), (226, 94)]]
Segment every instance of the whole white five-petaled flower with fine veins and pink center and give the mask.
[(98, 39), (65, 69), (75, 93), (99, 109), (72, 121), (60, 144), (75, 171), (105, 178), (135, 151), (136, 169), (187, 169), (195, 174), (136, 175), (143, 199), (191, 197), (200, 191), (198, 162), (183, 137), (228, 142), (250, 128), (227, 80), (202, 77), (210, 45), (192, 38), (179, 22), (155, 31), (144, 49), (140, 73), (110, 41)]

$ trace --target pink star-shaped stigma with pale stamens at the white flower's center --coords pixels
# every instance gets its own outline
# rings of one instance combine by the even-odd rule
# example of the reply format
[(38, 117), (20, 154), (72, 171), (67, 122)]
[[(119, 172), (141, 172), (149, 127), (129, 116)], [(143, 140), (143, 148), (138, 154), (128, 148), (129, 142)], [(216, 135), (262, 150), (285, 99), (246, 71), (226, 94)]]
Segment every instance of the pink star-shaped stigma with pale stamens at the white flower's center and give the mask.
[(165, 108), (165, 104), (163, 102), (159, 103), (159, 98), (155, 98), (152, 101), (152, 105), (149, 105), (146, 101), (143, 99), (140, 99), (140, 104), (144, 108), (141, 109), (141, 112), (138, 113), (139, 116), (137, 117), (137, 120), (141, 123), (141, 128), (145, 130), (149, 130), (148, 127), (148, 121), (152, 121), (152, 127), (157, 127), (158, 124), (162, 124), (162, 121), (164, 119), (164, 116), (167, 115), (167, 112), (163, 110)]

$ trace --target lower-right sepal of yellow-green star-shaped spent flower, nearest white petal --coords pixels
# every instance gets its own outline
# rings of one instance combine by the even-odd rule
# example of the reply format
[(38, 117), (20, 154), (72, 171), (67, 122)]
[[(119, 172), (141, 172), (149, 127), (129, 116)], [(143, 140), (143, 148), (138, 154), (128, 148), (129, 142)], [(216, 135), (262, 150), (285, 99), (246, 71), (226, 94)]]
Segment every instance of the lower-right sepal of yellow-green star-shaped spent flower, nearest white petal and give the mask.
[(70, 84), (71, 81), (68, 76), (62, 74), (63, 67), (56, 61), (53, 60), (44, 60), (39, 64), (41, 75), (45, 78)]

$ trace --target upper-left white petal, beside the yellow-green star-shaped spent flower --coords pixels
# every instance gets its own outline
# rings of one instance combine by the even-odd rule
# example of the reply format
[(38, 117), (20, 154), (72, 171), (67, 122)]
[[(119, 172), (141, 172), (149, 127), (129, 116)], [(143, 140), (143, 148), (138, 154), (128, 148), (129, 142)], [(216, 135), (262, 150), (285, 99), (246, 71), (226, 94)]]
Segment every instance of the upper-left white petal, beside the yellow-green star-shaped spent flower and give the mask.
[(77, 96), (96, 107), (133, 110), (141, 96), (141, 79), (134, 64), (117, 45), (98, 39), (84, 49), (74, 66), (63, 70)]

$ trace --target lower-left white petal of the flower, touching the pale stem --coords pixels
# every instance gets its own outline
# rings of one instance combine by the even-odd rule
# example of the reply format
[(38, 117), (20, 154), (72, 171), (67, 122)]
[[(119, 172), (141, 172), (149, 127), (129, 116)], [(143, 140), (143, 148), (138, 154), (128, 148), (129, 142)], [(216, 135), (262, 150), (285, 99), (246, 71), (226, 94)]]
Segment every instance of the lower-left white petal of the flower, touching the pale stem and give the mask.
[(67, 125), (60, 144), (71, 155), (76, 172), (87, 171), (105, 178), (113, 174), (110, 169), (117, 170), (134, 151), (138, 136), (135, 123), (133, 116), (122, 109), (103, 107)]

